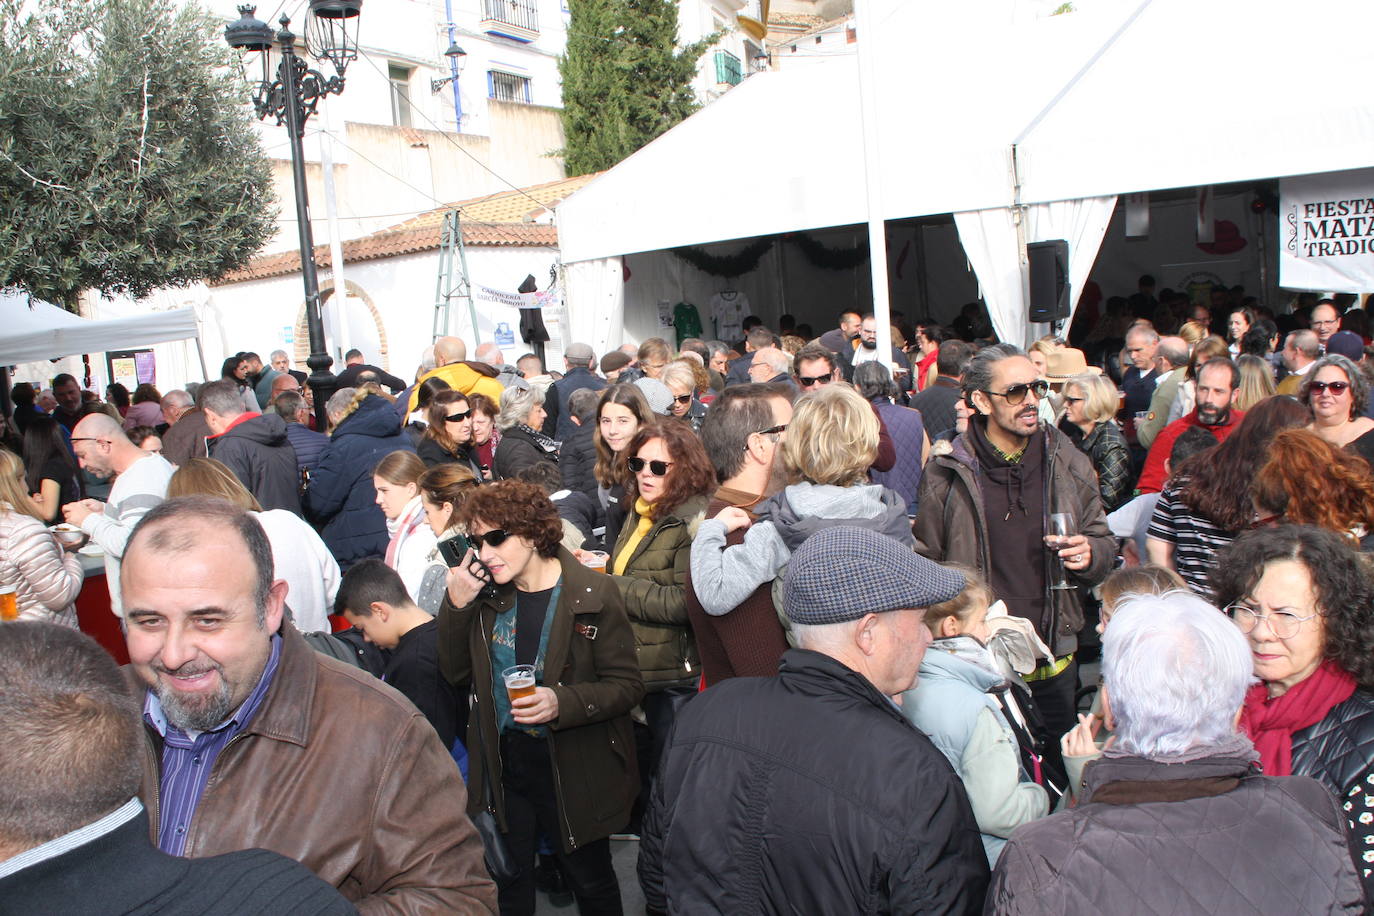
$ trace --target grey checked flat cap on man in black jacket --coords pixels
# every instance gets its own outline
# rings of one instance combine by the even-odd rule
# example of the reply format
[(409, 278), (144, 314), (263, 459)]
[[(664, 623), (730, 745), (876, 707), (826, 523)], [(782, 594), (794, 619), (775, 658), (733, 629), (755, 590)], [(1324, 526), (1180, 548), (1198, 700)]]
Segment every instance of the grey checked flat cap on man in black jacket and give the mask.
[(837, 525), (816, 531), (791, 555), (782, 600), (793, 623), (844, 623), (948, 602), (963, 586), (963, 573), (886, 534)]

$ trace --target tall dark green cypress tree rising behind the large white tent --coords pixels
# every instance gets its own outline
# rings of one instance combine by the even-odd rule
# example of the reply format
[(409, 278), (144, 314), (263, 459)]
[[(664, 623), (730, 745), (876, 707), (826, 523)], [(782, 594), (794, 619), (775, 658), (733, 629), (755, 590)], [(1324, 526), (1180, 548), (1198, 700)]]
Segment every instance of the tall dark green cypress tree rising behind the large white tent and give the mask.
[(673, 0), (569, 0), (563, 162), (609, 169), (698, 108), (697, 62), (720, 34), (677, 47)]

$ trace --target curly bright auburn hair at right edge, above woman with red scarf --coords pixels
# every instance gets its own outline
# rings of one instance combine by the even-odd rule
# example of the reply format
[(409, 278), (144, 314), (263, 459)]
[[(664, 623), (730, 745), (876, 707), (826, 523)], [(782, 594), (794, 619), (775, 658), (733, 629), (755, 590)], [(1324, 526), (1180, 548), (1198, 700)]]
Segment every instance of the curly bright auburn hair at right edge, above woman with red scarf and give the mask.
[(1308, 430), (1274, 437), (1250, 485), (1257, 525), (1315, 525), (1374, 549), (1374, 474), (1369, 464)]

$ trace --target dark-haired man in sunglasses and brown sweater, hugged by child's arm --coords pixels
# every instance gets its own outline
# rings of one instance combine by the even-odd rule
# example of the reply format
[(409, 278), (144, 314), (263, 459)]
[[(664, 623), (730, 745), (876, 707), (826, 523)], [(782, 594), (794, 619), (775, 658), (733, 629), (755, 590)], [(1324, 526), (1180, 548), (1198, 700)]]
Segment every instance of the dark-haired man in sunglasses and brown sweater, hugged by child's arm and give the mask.
[[(720, 488), (706, 507), (706, 518), (728, 505), (747, 512), (783, 488), (782, 441), (791, 420), (793, 393), (791, 385), (734, 385), (712, 404), (701, 424), (701, 441)], [(725, 542), (741, 542), (746, 530), (730, 533)], [(708, 685), (778, 673), (787, 639), (774, 610), (772, 582), (760, 585), (721, 617), (712, 617), (701, 606), (690, 571), (686, 588), (687, 617)]]

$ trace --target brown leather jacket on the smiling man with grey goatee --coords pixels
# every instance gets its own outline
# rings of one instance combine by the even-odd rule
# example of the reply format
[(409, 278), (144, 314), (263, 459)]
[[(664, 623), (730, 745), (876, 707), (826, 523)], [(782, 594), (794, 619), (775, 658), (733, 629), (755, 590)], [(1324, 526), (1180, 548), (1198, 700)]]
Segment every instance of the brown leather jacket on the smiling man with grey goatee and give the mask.
[[(162, 739), (146, 732), (139, 797), (157, 842)], [(409, 700), (283, 625), (272, 685), (216, 758), (185, 856), (271, 849), (364, 915), (495, 913), (466, 802), (458, 766)]]

